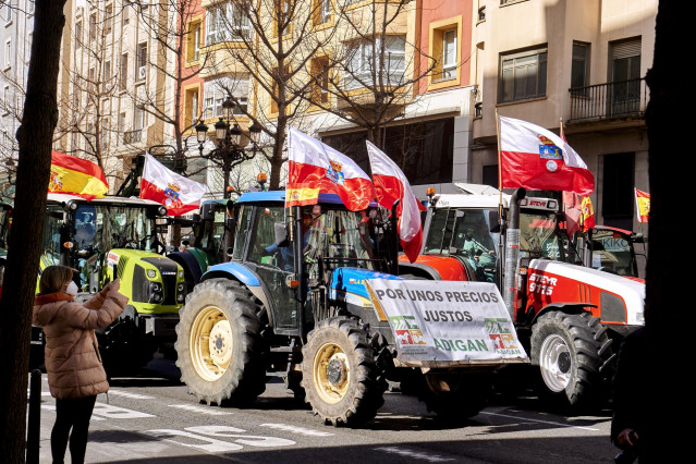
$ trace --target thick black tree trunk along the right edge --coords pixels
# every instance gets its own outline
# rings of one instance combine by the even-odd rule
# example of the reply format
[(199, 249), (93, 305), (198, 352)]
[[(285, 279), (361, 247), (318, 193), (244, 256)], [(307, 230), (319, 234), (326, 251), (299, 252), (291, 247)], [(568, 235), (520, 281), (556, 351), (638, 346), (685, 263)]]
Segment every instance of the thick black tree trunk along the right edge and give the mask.
[[(646, 461), (679, 462), (691, 452), (683, 424), (685, 407), (691, 403), (685, 373), (691, 370), (687, 341), (693, 330), (677, 326), (687, 323), (687, 308), (693, 302), (688, 289), (693, 286), (691, 273), (680, 257), (679, 235), (686, 235), (688, 249), (691, 228), (684, 217), (691, 217), (691, 195), (686, 192), (693, 182), (689, 169), (679, 168), (680, 154), (684, 154), (684, 135), (693, 131), (691, 121), (680, 111), (688, 91), (687, 73), (677, 70), (683, 63), (684, 30), (691, 15), (686, 5), (677, 1), (661, 0), (656, 23), (655, 59), (648, 71), (650, 102), (646, 113), (649, 139), (650, 222), (649, 256), (646, 277), (646, 333), (649, 359), (645, 364), (646, 386), (636, 386), (645, 392), (647, 429), (640, 439), (645, 444)], [(676, 161), (676, 162), (675, 162)], [(681, 259), (681, 262), (676, 259)], [(677, 413), (679, 412), (679, 413)], [(676, 417), (680, 414), (682, 417)], [(688, 430), (688, 431), (687, 431)]]

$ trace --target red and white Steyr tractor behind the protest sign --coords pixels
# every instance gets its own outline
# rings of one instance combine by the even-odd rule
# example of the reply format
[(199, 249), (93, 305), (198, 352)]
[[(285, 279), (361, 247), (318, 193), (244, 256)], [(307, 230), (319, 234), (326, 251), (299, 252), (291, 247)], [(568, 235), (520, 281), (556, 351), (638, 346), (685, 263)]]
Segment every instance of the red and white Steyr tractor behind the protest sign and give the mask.
[[(636, 279), (635, 255), (632, 264), (606, 247), (578, 251), (559, 227), (562, 219), (555, 199), (527, 198), (523, 188), (435, 195), (423, 254), (415, 264), (401, 257), (400, 274), (496, 282), (539, 370), (540, 393), (576, 407), (597, 405), (619, 343), (644, 325), (645, 282)], [(601, 248), (609, 237), (598, 232), (586, 243)], [(602, 262), (615, 266), (608, 271)]]

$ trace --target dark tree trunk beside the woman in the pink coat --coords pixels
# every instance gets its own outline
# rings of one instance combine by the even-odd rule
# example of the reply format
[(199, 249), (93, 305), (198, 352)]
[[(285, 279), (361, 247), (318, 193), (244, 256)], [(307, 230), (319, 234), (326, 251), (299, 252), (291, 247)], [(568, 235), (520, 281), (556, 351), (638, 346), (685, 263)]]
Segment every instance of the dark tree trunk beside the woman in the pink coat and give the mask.
[(39, 266), (51, 143), (58, 122), (58, 70), (65, 0), (37, 0), (8, 264), (0, 301), (0, 456), (25, 462), (32, 308)]

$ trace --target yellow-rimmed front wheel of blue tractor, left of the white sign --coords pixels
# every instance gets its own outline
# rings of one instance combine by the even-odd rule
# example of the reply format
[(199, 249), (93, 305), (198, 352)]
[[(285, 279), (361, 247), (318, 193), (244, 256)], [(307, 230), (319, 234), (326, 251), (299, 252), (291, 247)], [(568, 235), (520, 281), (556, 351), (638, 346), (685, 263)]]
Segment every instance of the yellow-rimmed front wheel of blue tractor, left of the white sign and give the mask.
[(302, 350), (306, 402), (325, 424), (355, 426), (377, 415), (387, 382), (379, 376), (373, 347), (357, 322), (321, 320)]

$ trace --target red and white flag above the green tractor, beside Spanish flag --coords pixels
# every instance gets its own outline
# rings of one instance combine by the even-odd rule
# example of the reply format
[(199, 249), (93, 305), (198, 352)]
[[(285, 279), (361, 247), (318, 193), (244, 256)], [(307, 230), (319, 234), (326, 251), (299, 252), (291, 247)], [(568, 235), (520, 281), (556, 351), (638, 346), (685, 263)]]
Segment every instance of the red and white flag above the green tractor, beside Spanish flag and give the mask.
[(161, 203), (167, 207), (168, 216), (181, 216), (198, 209), (205, 193), (205, 184), (176, 174), (151, 155), (145, 155), (141, 198)]

